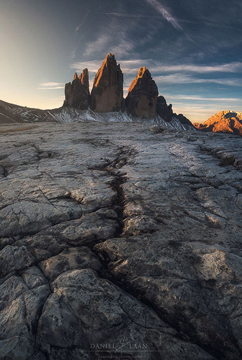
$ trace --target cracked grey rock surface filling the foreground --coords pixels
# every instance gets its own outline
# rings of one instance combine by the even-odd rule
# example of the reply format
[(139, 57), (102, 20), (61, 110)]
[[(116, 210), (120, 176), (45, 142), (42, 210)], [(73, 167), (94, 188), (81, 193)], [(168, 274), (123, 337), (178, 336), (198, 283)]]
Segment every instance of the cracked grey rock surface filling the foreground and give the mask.
[(1, 359), (242, 357), (240, 137), (1, 129)]

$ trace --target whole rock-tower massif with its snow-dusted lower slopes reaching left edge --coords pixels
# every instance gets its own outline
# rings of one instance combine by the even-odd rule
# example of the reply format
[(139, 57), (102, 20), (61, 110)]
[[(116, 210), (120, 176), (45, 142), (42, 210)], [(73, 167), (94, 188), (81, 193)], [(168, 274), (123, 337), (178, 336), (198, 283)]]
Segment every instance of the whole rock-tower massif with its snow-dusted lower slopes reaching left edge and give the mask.
[(65, 84), (65, 101), (59, 109), (40, 110), (0, 101), (0, 123), (40, 121), (144, 121), (176, 130), (194, 130), (191, 121), (175, 114), (172, 104), (159, 96), (145, 66), (123, 97), (123, 73), (113, 53), (108, 53), (89, 91), (88, 69)]

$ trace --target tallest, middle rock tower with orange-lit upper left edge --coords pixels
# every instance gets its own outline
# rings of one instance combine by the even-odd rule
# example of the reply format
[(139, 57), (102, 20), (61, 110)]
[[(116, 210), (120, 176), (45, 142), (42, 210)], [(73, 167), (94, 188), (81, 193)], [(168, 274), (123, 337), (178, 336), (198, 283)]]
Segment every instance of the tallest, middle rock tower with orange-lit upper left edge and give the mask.
[(115, 56), (109, 53), (94, 79), (90, 98), (91, 110), (98, 113), (120, 111), (123, 101), (123, 73)]

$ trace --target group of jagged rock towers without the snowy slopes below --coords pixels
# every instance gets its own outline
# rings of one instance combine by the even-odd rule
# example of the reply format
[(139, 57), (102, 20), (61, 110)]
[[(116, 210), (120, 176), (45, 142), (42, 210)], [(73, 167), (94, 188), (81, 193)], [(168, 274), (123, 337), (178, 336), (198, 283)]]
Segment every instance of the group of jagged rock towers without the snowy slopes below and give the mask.
[(176, 117), (181, 124), (188, 124), (188, 128), (193, 128), (187, 118), (173, 113), (172, 104), (167, 105), (163, 96), (158, 97), (157, 85), (145, 66), (138, 70), (124, 100), (123, 73), (115, 55), (111, 52), (106, 55), (95, 76), (91, 94), (89, 94), (88, 69), (85, 68), (79, 77), (75, 73), (72, 83), (66, 84), (65, 97), (64, 106), (81, 110), (90, 107), (96, 113), (126, 111), (128, 116), (144, 119), (155, 118), (158, 114), (161, 121), (165, 122), (171, 122)]

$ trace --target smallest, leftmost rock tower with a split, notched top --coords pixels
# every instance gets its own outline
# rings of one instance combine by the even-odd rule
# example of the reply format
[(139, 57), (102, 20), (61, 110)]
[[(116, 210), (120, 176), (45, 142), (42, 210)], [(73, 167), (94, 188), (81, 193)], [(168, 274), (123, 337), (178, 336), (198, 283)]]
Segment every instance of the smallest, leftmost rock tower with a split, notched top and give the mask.
[(75, 73), (72, 83), (69, 82), (65, 85), (64, 106), (72, 106), (77, 109), (87, 110), (89, 106), (89, 97), (88, 70), (84, 69), (79, 77), (77, 73)]

